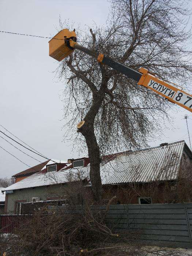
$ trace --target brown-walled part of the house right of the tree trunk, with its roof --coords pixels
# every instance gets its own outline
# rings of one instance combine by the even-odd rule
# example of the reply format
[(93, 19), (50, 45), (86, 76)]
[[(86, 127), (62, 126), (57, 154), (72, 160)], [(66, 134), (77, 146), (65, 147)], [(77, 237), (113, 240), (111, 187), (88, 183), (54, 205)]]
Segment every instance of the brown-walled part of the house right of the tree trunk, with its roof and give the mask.
[[(88, 176), (89, 165), (82, 172)], [(100, 173), (105, 202), (192, 202), (192, 152), (184, 140), (104, 156)]]

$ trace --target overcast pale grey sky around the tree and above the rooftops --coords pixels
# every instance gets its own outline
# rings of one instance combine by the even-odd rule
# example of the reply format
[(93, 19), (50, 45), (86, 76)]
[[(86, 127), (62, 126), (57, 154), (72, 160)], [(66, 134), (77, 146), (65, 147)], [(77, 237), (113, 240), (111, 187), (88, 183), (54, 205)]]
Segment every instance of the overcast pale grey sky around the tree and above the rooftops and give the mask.
[[(108, 12), (109, 3), (106, 0), (0, 0), (0, 30), (52, 36), (57, 33), (59, 16), (62, 20), (73, 20), (74, 27), (80, 23), (84, 28), (84, 25), (91, 26), (94, 22), (97, 25), (105, 24)], [(71, 144), (63, 142), (64, 121), (59, 94), (64, 84), (58, 82), (52, 73), (58, 63), (48, 55), (48, 41), (0, 33), (0, 124), (49, 158), (65, 160), (78, 157), (79, 153), (71, 152)], [(164, 136), (151, 141), (150, 146), (182, 139), (189, 146), (183, 117), (185, 114), (189, 116), (191, 130), (192, 114), (179, 107), (176, 109), (174, 107), (172, 112), (173, 125), (163, 129)], [(2, 127), (0, 130), (4, 131)], [(30, 166), (38, 164), (2, 138), (0, 146)], [(24, 151), (35, 157), (29, 151)], [(45, 160), (38, 156), (35, 158), (42, 162)], [(10, 177), (27, 169), (1, 148), (0, 166), (0, 177)]]

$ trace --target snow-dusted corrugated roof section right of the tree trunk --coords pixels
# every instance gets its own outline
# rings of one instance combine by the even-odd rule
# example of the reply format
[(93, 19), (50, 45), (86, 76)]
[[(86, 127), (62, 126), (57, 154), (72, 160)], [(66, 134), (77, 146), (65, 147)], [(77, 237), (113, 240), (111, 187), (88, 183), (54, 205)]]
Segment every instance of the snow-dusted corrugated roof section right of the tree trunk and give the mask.
[(101, 166), (102, 184), (174, 180), (180, 168), (184, 144), (182, 141), (117, 155)]

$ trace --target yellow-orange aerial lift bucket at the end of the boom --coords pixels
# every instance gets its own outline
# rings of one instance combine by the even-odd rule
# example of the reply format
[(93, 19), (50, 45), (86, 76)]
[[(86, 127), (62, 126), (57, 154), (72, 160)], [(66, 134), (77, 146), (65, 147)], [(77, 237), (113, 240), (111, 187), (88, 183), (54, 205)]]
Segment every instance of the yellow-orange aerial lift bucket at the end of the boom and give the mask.
[(61, 30), (49, 41), (49, 56), (58, 61), (63, 60), (74, 51), (74, 48), (70, 47), (69, 39), (76, 41), (76, 38), (75, 31)]

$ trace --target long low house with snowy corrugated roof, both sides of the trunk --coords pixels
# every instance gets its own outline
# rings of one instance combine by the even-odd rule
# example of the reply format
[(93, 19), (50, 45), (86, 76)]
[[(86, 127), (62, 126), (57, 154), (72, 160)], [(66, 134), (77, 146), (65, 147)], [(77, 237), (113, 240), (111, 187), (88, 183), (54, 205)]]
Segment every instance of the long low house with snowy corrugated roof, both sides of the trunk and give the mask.
[[(68, 159), (62, 168), (57, 167), (59, 164), (50, 161), (41, 172), (5, 188), (5, 212), (20, 213), (22, 205), (35, 198), (41, 202), (64, 201), (64, 191), (79, 181), (83, 181), (91, 200), (89, 159)], [(192, 152), (184, 140), (104, 156), (100, 167), (103, 199), (108, 202), (116, 195), (114, 204), (191, 202), (191, 166)]]

